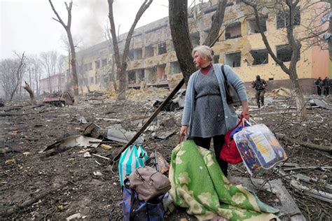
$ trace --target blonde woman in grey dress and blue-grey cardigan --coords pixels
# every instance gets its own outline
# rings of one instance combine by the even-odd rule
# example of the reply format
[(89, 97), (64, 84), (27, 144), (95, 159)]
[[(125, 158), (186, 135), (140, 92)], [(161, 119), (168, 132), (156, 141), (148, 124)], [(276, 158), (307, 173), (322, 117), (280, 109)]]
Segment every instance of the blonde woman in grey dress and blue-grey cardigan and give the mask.
[[(233, 129), (238, 117), (226, 102), (221, 64), (212, 64), (212, 50), (205, 45), (193, 49), (193, 62), (200, 70), (188, 81), (180, 136), (188, 134), (196, 145), (209, 150), (213, 138), (214, 152), (221, 170), (227, 176), (228, 162), (219, 159), (227, 131)], [(242, 117), (249, 119), (247, 92), (244, 83), (230, 68), (224, 66), (228, 83), (233, 85), (242, 102)]]

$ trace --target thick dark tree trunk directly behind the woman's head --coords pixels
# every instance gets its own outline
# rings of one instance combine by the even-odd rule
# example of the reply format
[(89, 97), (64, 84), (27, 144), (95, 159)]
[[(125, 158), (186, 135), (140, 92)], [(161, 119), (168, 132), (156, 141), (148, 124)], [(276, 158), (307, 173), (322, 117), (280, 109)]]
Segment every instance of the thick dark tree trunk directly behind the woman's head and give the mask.
[(188, 1), (170, 0), (169, 19), (174, 49), (180, 64), (186, 85), (189, 77), (196, 70), (191, 57), (193, 45), (191, 44), (188, 28)]

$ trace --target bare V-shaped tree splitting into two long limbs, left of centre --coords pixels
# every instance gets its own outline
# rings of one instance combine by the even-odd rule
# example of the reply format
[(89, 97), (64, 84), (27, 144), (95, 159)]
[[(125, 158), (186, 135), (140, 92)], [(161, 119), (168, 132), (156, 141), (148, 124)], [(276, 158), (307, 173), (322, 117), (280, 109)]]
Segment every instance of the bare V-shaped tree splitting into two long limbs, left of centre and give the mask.
[(145, 0), (139, 10), (137, 11), (136, 17), (134, 22), (132, 23), (132, 27), (130, 27), (130, 31), (127, 34), (127, 38), (125, 40), (125, 48), (123, 49), (123, 57), (122, 60), (120, 59), (120, 52), (118, 47), (118, 39), (116, 37), (116, 28), (114, 24), (114, 17), (113, 17), (113, 0), (108, 0), (109, 2), (109, 22), (111, 24), (111, 36), (113, 41), (113, 50), (114, 50), (114, 57), (116, 59), (116, 74), (119, 79), (118, 85), (118, 100), (125, 100), (125, 89), (126, 89), (126, 76), (125, 70), (127, 69), (127, 56), (129, 52), (130, 41), (132, 39), (132, 33), (136, 27), (137, 22), (141, 18), (141, 15), (146, 11), (146, 9), (151, 5), (153, 0)]

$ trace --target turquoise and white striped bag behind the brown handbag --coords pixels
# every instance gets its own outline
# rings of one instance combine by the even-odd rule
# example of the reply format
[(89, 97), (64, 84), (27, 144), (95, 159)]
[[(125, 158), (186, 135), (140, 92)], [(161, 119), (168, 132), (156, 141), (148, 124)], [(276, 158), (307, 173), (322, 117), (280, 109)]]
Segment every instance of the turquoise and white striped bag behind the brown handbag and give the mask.
[(123, 186), (123, 180), (125, 176), (134, 169), (144, 166), (146, 160), (148, 159), (148, 154), (146, 150), (142, 148), (141, 145), (137, 148), (136, 145), (130, 145), (123, 153), (120, 155), (119, 160), (119, 176), (120, 176), (120, 185)]

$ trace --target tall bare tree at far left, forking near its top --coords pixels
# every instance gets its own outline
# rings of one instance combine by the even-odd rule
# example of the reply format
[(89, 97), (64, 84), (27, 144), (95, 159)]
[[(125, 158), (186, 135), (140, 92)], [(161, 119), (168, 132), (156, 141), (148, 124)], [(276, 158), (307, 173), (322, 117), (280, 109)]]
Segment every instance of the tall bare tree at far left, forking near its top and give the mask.
[(59, 22), (62, 24), (62, 27), (66, 30), (69, 45), (70, 45), (70, 51), (71, 51), (71, 71), (73, 74), (73, 87), (74, 87), (74, 99), (75, 99), (75, 104), (78, 104), (78, 78), (77, 78), (77, 72), (76, 72), (76, 52), (75, 52), (75, 47), (74, 47), (74, 41), (73, 37), (71, 36), (71, 7), (73, 6), (73, 1), (69, 2), (69, 5), (67, 2), (64, 2), (66, 8), (67, 8), (67, 24), (64, 24), (62, 21), (60, 15), (57, 13), (55, 10), (53, 3), (51, 0), (48, 0), (50, 2), (50, 6), (52, 7), (53, 12), (57, 16), (57, 19), (53, 17), (53, 20)]

